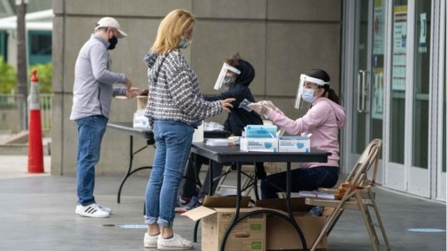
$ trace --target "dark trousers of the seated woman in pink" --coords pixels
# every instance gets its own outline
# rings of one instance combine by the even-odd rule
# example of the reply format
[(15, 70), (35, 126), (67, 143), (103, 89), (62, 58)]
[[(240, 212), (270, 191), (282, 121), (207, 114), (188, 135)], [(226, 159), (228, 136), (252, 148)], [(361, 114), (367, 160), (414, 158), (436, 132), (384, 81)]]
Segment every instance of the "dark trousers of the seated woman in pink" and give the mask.
[[(338, 167), (293, 169), (291, 192), (332, 188), (338, 180)], [(286, 192), (286, 172), (267, 176), (261, 181), (262, 199), (277, 198), (277, 192)]]

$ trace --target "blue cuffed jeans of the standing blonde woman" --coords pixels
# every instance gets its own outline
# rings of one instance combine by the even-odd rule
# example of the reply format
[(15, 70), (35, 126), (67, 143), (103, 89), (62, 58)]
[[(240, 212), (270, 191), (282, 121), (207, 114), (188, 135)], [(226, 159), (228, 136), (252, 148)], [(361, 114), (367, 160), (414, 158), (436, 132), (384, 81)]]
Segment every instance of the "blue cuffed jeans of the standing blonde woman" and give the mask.
[(154, 121), (156, 151), (146, 188), (145, 223), (172, 227), (175, 202), (194, 128), (178, 121)]

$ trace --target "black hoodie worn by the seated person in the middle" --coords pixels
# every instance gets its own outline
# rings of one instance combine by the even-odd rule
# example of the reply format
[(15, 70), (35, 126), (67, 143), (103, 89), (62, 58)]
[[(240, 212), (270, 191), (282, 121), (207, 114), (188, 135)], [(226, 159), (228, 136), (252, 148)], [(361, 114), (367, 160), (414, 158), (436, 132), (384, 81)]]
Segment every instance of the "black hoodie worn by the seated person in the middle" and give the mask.
[(228, 117), (223, 123), (225, 130), (231, 132), (235, 136), (240, 136), (242, 130), (247, 125), (262, 125), (263, 120), (254, 111), (247, 112), (247, 110), (239, 108), (240, 102), (247, 98), (250, 102), (255, 102), (253, 95), (249, 89), (249, 84), (254, 79), (254, 68), (247, 61), (240, 59), (239, 66), (237, 69), (240, 70), (240, 75), (237, 75), (235, 83), (230, 86), (230, 88), (216, 96), (205, 97), (207, 101), (224, 100), (226, 98), (235, 98), (236, 100), (232, 102), (233, 108), (231, 112), (228, 113)]

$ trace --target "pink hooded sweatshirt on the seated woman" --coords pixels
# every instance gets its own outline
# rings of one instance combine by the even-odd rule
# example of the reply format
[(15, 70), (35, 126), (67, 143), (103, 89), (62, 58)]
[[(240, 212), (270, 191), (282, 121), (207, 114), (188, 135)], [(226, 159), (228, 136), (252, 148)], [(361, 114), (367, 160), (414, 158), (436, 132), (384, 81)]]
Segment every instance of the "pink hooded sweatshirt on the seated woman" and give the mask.
[(328, 98), (317, 98), (312, 102), (312, 108), (305, 116), (297, 120), (289, 119), (284, 112), (275, 107), (268, 114), (268, 119), (280, 128), (283, 128), (290, 135), (309, 135), (310, 146), (315, 149), (328, 151), (332, 155), (328, 156), (328, 162), (303, 162), (301, 168), (339, 166), (339, 144), (338, 130), (342, 129), (346, 123), (346, 112), (344, 108), (337, 105)]

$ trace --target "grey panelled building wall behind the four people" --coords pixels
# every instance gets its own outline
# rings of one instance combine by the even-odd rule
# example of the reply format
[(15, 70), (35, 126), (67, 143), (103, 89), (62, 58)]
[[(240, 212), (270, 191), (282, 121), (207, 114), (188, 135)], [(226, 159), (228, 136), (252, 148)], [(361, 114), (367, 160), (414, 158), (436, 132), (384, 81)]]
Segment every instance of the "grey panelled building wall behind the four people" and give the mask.
[[(74, 64), (96, 21), (115, 17), (129, 34), (110, 52), (112, 66), (143, 89), (147, 88), (147, 74), (142, 57), (154, 41), (160, 20), (176, 8), (190, 10), (197, 17), (193, 43), (184, 54), (198, 74), (204, 94), (217, 93), (212, 87), (223, 59), (235, 51), (256, 70), (251, 84), (255, 98), (272, 100), (291, 118), (302, 115), (293, 109), (300, 73), (312, 68), (327, 70), (338, 93), (340, 0), (53, 0), (52, 174), (75, 174), (77, 132), (68, 119)], [(135, 107), (135, 100), (114, 100), (109, 121), (131, 121)], [(209, 120), (222, 123), (225, 116)], [(145, 142), (135, 139), (135, 144), (144, 146)], [(135, 158), (135, 165), (152, 164), (153, 153), (153, 148), (145, 150)], [(96, 172), (121, 174), (127, 165), (129, 135), (107, 130)]]

